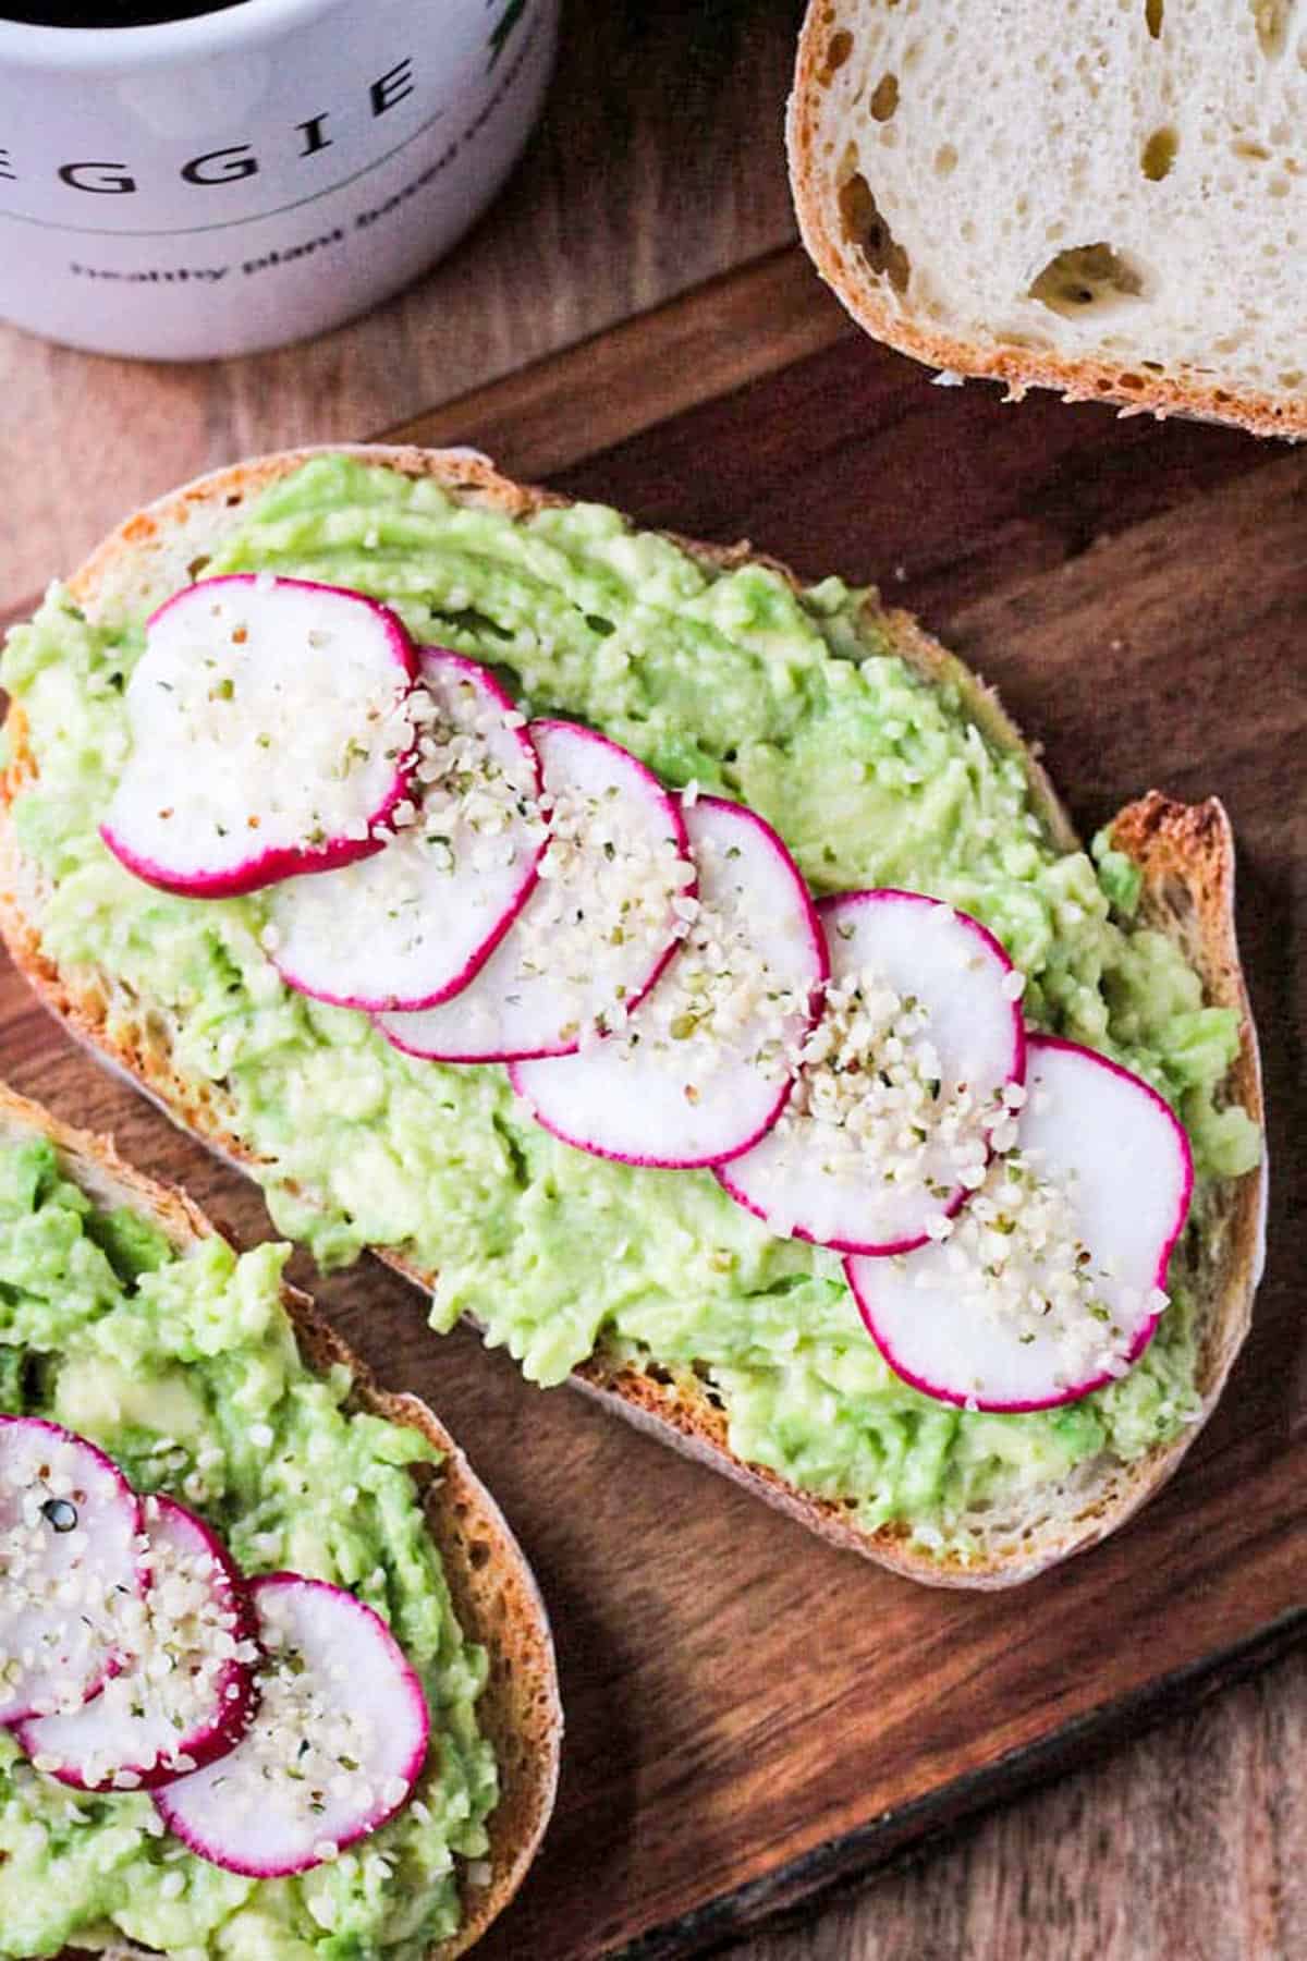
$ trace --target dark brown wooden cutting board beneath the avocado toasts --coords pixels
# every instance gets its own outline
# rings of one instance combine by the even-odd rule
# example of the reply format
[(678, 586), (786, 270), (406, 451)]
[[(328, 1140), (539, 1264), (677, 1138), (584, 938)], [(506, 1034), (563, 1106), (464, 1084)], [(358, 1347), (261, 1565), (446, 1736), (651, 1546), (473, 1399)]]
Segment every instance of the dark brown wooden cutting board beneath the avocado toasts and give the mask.
[[(1252, 1339), (1172, 1486), (1017, 1594), (935, 1594), (829, 1551), (470, 1335), (437, 1341), (372, 1263), (317, 1286), (466, 1443), (553, 1608), (558, 1814), (486, 1961), (690, 1955), (1307, 1634), (1307, 453), (933, 386), (796, 251), (398, 433), (880, 578), (999, 684), (1086, 835), (1158, 784), (1219, 790), (1240, 839), (1276, 1167)], [(266, 1233), (253, 1190), (78, 1057), (10, 971), (0, 1069)]]

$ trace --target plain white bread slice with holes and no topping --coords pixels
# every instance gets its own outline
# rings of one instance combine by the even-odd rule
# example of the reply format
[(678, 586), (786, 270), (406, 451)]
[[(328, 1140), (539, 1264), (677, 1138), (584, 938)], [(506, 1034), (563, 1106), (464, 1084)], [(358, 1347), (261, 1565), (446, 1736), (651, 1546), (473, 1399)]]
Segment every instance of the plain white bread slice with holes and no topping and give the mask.
[(1293, 0), (809, 0), (790, 178), (892, 347), (1301, 435), (1305, 127)]

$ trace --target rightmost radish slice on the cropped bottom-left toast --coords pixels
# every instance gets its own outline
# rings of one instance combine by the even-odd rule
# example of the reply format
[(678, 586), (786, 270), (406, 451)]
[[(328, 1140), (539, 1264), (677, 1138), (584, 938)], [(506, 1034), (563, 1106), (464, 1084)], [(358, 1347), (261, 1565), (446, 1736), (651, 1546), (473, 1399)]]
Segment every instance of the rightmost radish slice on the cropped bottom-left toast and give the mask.
[(229, 1755), (155, 1792), (182, 1843), (280, 1879), (335, 1859), (408, 1800), (427, 1755), (421, 1683), (386, 1622), (298, 1573), (251, 1581), (265, 1663)]

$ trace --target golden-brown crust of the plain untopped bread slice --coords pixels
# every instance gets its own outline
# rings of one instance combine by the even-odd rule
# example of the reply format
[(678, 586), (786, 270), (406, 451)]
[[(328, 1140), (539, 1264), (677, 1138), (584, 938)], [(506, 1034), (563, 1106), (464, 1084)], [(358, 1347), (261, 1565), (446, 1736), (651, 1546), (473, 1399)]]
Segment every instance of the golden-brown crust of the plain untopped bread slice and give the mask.
[[(1137, 373), (1135, 367), (1084, 357), (1080, 361), (1041, 355), (1035, 349), (993, 341), (984, 347), (919, 326), (907, 308), (880, 294), (880, 282), (860, 267), (860, 251), (833, 231), (835, 198), (825, 188), (819, 122), (825, 94), (825, 37), (833, 24), (829, 0), (809, 0), (799, 31), (794, 88), (786, 112), (786, 151), (790, 188), (799, 237), (847, 314), (874, 339), (896, 347), (913, 361), (972, 380), (1001, 380), (1007, 400), (1019, 402), (1027, 388), (1054, 388), (1064, 402), (1109, 402), (1127, 416), (1189, 416), (1225, 422), (1250, 435), (1307, 435), (1307, 398), (1282, 400), (1266, 392), (1240, 394), (1217, 382), (1197, 384), (1170, 375)], [(1123, 386), (1123, 373), (1133, 386)], [(1138, 384), (1138, 386), (1135, 386)]]

